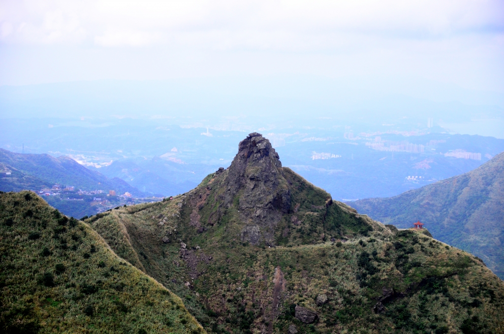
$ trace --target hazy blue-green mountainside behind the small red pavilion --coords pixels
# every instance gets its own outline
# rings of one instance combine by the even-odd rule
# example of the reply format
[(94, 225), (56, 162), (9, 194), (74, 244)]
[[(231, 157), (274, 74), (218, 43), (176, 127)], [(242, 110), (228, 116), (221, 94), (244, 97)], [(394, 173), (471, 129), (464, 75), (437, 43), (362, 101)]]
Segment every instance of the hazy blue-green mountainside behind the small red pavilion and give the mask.
[(504, 279), (504, 153), (469, 173), (352, 206), (399, 228), (421, 220), (435, 238), (479, 256)]

